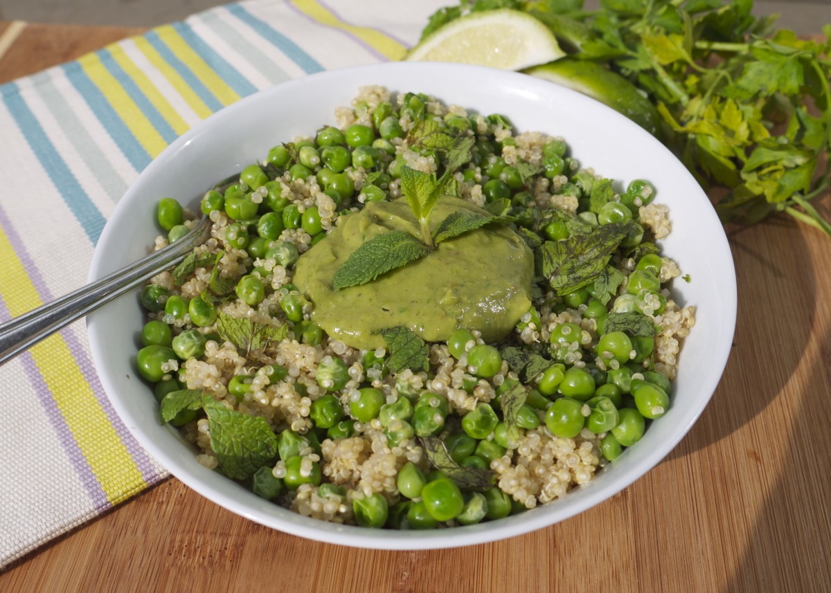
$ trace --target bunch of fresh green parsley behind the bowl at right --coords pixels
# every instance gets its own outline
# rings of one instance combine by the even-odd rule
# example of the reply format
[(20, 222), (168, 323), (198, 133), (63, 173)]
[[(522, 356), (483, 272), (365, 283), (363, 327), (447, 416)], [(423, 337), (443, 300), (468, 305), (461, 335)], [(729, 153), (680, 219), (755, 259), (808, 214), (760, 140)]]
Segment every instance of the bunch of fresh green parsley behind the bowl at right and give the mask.
[(661, 115), (661, 141), (715, 200), (722, 220), (784, 212), (831, 236), (810, 200), (831, 184), (831, 24), (824, 41), (773, 32), (752, 0), (462, 0), (424, 34), (467, 12), (509, 7), (548, 25), (573, 58), (622, 75)]

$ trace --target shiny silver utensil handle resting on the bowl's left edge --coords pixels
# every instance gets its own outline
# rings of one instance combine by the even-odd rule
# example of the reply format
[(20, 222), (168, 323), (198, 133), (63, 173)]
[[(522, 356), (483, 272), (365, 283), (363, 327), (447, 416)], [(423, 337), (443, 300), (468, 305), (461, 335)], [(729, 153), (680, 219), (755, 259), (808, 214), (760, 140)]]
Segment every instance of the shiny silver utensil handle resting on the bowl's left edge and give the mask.
[(0, 365), (62, 327), (86, 316), (99, 306), (129, 292), (171, 267), (175, 267), (196, 245), (204, 242), (210, 219), (203, 217), (179, 241), (142, 257), (96, 282), (39, 306), (0, 325)]

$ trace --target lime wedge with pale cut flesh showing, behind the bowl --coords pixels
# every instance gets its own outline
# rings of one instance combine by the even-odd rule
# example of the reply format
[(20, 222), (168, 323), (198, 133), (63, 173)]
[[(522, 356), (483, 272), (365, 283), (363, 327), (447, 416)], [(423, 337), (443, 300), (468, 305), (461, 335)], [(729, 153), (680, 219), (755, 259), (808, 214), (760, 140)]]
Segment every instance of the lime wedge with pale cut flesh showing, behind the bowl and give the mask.
[(405, 56), (521, 70), (564, 55), (557, 38), (534, 17), (509, 8), (471, 12), (436, 29)]

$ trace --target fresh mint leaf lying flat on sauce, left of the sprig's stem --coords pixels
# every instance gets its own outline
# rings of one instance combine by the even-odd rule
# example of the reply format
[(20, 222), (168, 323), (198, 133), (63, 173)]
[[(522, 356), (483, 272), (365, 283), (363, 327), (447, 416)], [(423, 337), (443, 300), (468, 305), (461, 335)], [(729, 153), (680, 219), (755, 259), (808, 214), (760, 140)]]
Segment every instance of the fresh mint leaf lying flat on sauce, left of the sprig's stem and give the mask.
[(430, 253), (430, 247), (410, 233), (390, 231), (371, 238), (358, 247), (335, 272), (332, 287), (356, 287), (371, 282), (386, 272), (395, 270)]

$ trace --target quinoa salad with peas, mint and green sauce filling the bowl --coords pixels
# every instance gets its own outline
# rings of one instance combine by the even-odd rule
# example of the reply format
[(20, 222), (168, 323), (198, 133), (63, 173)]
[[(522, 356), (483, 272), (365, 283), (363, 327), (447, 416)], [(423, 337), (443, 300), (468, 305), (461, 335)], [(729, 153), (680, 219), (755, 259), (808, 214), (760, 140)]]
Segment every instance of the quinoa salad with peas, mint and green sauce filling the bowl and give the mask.
[[(695, 307), (647, 180), (381, 86), (285, 140), (141, 292), (135, 365), (199, 463), (307, 517), (455, 527), (566, 496), (671, 407)], [(155, 249), (199, 215), (162, 198)]]

